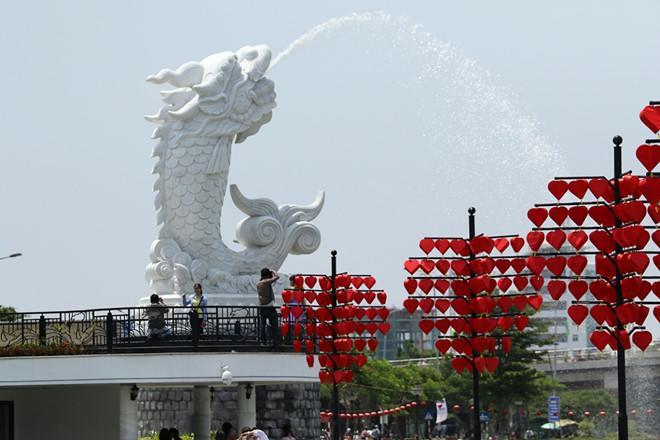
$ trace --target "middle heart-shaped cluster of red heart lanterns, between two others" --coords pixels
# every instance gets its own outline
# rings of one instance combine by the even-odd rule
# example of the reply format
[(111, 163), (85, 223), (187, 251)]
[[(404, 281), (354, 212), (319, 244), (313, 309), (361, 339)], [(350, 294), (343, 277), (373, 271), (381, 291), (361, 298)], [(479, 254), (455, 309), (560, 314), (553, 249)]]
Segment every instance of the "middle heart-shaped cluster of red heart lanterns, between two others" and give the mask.
[[(404, 262), (409, 296), (403, 306), (410, 314), (423, 312), (419, 328), (425, 334), (437, 329), (445, 335), (435, 346), (443, 355), (455, 354), (451, 365), (457, 372), (494, 372), (496, 349), (511, 349), (507, 332), (523, 331), (528, 314), (541, 307), (540, 262), (519, 255), (524, 246), (521, 237), (424, 238), (419, 247), (425, 256)], [(507, 255), (508, 249), (515, 254)], [(495, 337), (497, 331), (504, 336)]]

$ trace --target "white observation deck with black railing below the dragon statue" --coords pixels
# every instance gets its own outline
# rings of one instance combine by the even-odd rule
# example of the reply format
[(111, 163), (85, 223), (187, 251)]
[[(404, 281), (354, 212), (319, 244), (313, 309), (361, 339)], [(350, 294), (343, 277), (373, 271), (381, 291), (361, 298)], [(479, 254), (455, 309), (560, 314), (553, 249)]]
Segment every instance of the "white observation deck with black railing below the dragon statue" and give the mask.
[[(168, 306), (171, 335), (148, 338), (146, 307), (11, 313), (0, 317), (0, 387), (70, 384), (318, 382), (291, 340), (260, 334), (259, 307), (208, 306), (201, 333), (190, 308)], [(279, 332), (279, 329), (276, 329)]]

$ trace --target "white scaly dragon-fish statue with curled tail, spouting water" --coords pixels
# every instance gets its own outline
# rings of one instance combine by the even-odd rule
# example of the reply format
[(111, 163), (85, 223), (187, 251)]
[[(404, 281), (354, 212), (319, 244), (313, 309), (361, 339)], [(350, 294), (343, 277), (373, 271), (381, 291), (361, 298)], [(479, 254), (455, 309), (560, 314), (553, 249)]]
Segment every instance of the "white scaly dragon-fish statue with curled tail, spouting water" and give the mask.
[(150, 293), (167, 298), (199, 282), (209, 304), (251, 303), (263, 267), (279, 269), (288, 254), (318, 249), (321, 235), (310, 222), (323, 207), (323, 192), (311, 205), (278, 207), (230, 185), (234, 204), (249, 216), (236, 227), (244, 249), (222, 241), (232, 145), (257, 133), (276, 105), (274, 83), (265, 77), (270, 59), (267, 46), (248, 46), (147, 77), (175, 87), (162, 91), (165, 105), (145, 117), (158, 124), (152, 137), (158, 139), (153, 173), (160, 232), (146, 269)]

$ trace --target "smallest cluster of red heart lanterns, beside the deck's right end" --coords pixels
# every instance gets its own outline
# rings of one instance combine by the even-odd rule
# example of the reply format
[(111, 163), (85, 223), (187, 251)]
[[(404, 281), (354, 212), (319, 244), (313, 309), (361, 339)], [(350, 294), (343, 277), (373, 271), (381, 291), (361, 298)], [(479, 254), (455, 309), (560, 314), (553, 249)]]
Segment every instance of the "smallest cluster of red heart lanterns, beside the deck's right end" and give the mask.
[(376, 333), (390, 330), (387, 294), (375, 284), (370, 275), (297, 275), (282, 291), (282, 336), (292, 336), (310, 367), (318, 354), (321, 383), (351, 382), (351, 368), (367, 362), (364, 351), (376, 350)]

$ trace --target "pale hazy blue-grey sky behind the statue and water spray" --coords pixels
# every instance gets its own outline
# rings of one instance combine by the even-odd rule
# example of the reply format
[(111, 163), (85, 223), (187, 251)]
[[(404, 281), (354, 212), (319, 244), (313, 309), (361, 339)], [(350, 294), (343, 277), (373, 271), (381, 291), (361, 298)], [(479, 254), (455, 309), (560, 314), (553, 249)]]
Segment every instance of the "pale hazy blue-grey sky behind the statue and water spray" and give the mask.
[[(402, 261), (424, 235), (465, 233), (469, 206), (480, 232), (524, 233), (555, 173), (611, 173), (615, 134), (641, 171), (657, 1), (357, 4), (4, 2), (0, 255), (25, 255), (0, 261), (0, 304), (134, 304), (156, 237), (142, 116), (159, 87), (144, 78), (248, 44), (277, 54), (333, 17), (362, 14), (269, 73), (273, 120), (233, 150), (230, 182), (250, 197), (327, 192), (321, 248), (283, 271), (327, 271), (337, 249), (399, 305)], [(225, 241), (241, 217), (227, 201)]]

